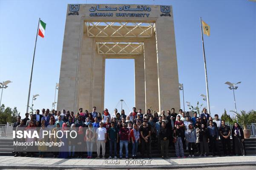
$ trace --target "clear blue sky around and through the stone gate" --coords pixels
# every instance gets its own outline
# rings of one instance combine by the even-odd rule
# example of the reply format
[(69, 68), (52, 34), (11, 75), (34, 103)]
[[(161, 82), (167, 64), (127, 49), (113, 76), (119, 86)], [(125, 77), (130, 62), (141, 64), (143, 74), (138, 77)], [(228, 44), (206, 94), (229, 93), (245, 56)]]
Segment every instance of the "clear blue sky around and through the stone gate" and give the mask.
[[(44, 39), (37, 40), (31, 93), (40, 94), (34, 108), (52, 108), (55, 83), (60, 75), (67, 4), (86, 2), (131, 3), (130, 0), (0, 0), (0, 81), (12, 81), (3, 91), (3, 104), (16, 106), (22, 116), (26, 111), (36, 28), (41, 17), (46, 23), (46, 33)], [(199, 96), (206, 94), (199, 25), (202, 17), (211, 27), (211, 36), (204, 37), (211, 112), (222, 114), (224, 108), (228, 113), (234, 110), (233, 93), (224, 85), (226, 81), (242, 81), (235, 92), (238, 111), (256, 109), (255, 2), (136, 0), (136, 3), (173, 6), (179, 82), (184, 84), (185, 101), (192, 105), (197, 101), (205, 103)], [(113, 111), (119, 99), (132, 108), (133, 60), (107, 59), (105, 83), (105, 107), (109, 111)], [(128, 112), (128, 108), (124, 109)]]

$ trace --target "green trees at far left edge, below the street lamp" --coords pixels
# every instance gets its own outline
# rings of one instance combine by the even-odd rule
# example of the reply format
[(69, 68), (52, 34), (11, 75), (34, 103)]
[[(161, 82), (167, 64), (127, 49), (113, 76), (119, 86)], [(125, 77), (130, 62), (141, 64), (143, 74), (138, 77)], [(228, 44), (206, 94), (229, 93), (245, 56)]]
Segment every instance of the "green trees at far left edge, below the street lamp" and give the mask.
[(0, 107), (0, 124), (6, 125), (7, 122), (14, 123), (17, 121), (17, 116), (20, 115), (20, 113), (17, 111), (17, 108), (14, 107), (14, 109), (7, 107), (5, 108), (5, 105), (1, 105)]

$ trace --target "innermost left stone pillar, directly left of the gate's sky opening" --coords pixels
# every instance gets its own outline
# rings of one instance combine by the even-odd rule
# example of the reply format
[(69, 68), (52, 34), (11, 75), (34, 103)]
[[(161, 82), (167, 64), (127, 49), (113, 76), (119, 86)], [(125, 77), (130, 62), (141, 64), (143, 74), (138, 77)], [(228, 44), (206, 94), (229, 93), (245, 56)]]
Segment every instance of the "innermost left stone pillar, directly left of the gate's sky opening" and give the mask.
[(105, 57), (95, 52), (92, 67), (92, 104), (101, 113), (104, 110)]

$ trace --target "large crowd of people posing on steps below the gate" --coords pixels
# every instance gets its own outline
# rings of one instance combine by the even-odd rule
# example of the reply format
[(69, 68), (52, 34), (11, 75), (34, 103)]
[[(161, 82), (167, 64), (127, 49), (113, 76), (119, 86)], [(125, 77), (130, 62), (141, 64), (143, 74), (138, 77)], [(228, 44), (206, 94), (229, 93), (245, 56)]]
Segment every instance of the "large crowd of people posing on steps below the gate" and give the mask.
[[(136, 111), (132, 108), (132, 112), (128, 115), (124, 110), (121, 114), (115, 109), (110, 115), (108, 109), (104, 109), (101, 113), (96, 112), (96, 107), (92, 108), (92, 112), (83, 108), (79, 112), (53, 110), (49, 109), (36, 110), (36, 114), (26, 113), (26, 117), (21, 119), (17, 117), (14, 123), (14, 130), (25, 128), (33, 130), (40, 127), (40, 130), (49, 130), (57, 133), (59, 130), (76, 130), (77, 139), (63, 140), (67, 143), (68, 151), (62, 147), (54, 147), (54, 157), (71, 158), (82, 157), (87, 151), (87, 159), (92, 158), (93, 148), (97, 148), (97, 157), (105, 158), (106, 145), (109, 145), (109, 159), (123, 158), (123, 148), (125, 149), (125, 158), (129, 158), (131, 152), (132, 159), (139, 157), (150, 158), (151, 146), (156, 144), (161, 150), (161, 157), (168, 157), (169, 146), (174, 145), (175, 154), (178, 158), (186, 158), (184, 150), (189, 151), (188, 157), (194, 157), (195, 153), (199, 156), (219, 155), (221, 156), (221, 148), (219, 147), (219, 138), (222, 143), (224, 156), (226, 155), (243, 155), (245, 156), (244, 134), (238, 123), (235, 123), (232, 130), (225, 125), (224, 120), (220, 120), (216, 114), (214, 119), (207, 113), (204, 108), (198, 116), (196, 112), (191, 117), (189, 112), (184, 113), (182, 109), (179, 113), (175, 113), (175, 109), (161, 113), (151, 113), (150, 109), (147, 113), (142, 113), (141, 109)], [(231, 150), (230, 136), (233, 139), (233, 149)], [(39, 140), (47, 140), (40, 138)], [(50, 139), (58, 142), (62, 139)], [(26, 142), (33, 142), (30, 139)], [(62, 141), (62, 142), (63, 142)], [(56, 149), (57, 148), (57, 149)], [(119, 150), (119, 152), (118, 152)], [(43, 157), (47, 147), (38, 146), (40, 157)], [(119, 154), (118, 154), (119, 153)], [(140, 153), (140, 154), (138, 154)], [(34, 152), (27, 152), (26, 156), (33, 156)], [(15, 152), (14, 156), (20, 156), (21, 152)]]

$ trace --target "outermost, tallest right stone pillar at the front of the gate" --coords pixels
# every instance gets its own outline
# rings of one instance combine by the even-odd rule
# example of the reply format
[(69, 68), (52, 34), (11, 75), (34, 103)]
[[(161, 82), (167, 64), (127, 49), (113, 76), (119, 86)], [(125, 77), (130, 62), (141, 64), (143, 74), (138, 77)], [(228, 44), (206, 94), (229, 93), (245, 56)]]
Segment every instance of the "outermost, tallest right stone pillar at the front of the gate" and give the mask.
[(158, 19), (155, 25), (159, 111), (171, 108), (177, 111), (180, 108), (180, 96), (173, 17), (170, 20)]

